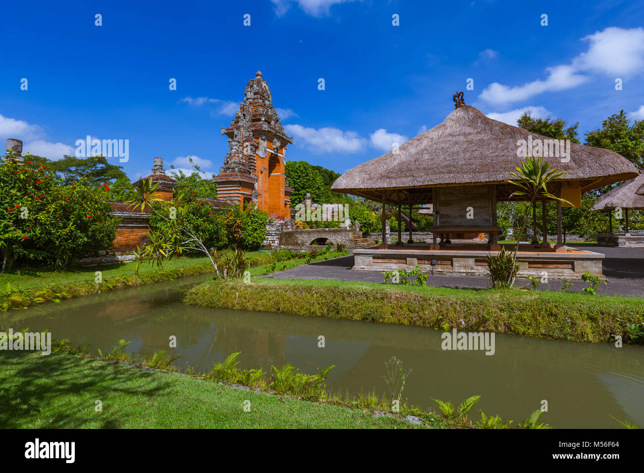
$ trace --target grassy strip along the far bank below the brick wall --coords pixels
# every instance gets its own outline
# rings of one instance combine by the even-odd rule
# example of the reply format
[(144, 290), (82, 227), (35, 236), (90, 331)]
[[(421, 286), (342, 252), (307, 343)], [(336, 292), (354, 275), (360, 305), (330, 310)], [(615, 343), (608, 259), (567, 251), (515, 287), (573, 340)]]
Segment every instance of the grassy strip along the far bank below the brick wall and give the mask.
[[(317, 255), (311, 261), (345, 254), (346, 250), (330, 251)], [(267, 252), (247, 252), (246, 256), (251, 263), (252, 276), (264, 274), (267, 264), (272, 261), (272, 256)], [(303, 258), (289, 259), (278, 263), (277, 270), (294, 268), (305, 263)], [(213, 264), (207, 257), (168, 259), (163, 268), (156, 268), (148, 263), (141, 264), (138, 275), (134, 274), (134, 270), (135, 263), (131, 262), (61, 272), (23, 269), (3, 274), (0, 275), (0, 311), (214, 272)], [(97, 271), (101, 272), (101, 283), (95, 282)]]

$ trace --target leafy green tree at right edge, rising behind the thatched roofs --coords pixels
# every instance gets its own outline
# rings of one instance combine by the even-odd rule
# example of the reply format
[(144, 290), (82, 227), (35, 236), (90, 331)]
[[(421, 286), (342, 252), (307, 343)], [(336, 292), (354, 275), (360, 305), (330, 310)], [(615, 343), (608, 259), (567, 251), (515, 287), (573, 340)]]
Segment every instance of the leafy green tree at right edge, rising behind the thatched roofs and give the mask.
[(601, 123), (601, 128), (585, 134), (586, 145), (610, 149), (644, 168), (644, 120), (630, 124), (624, 110), (614, 113)]

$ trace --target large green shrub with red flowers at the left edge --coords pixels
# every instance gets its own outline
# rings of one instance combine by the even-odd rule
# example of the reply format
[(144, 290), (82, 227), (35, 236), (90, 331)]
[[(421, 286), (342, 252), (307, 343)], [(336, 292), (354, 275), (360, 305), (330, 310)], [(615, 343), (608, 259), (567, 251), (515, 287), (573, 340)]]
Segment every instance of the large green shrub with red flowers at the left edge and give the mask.
[(44, 165), (10, 158), (0, 165), (0, 251), (3, 271), (15, 260), (56, 267), (90, 250), (108, 248), (118, 219), (109, 216), (104, 187), (84, 180), (61, 185)]

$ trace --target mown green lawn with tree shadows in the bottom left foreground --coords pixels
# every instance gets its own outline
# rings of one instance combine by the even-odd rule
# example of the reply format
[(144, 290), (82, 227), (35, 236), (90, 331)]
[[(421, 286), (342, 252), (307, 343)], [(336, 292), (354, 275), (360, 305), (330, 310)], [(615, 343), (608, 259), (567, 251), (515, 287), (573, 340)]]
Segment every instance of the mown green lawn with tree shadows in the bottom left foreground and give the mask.
[[(74, 355), (2, 352), (0, 428), (416, 428), (335, 405), (254, 393)], [(102, 412), (96, 412), (96, 401)], [(243, 403), (250, 401), (250, 411)]]

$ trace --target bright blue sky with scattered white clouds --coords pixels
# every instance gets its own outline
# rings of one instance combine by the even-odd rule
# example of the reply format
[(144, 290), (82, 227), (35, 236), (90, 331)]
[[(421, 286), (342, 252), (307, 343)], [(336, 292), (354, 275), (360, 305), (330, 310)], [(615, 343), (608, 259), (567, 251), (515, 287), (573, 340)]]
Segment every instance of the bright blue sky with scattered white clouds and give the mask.
[(294, 137), (287, 158), (337, 172), (439, 124), (456, 91), (493, 118), (515, 124), (530, 108), (578, 121), (582, 135), (620, 109), (644, 118), (641, 1), (21, 1), (2, 12), (0, 140), (58, 159), (87, 135), (127, 139), (120, 164), (133, 179), (154, 156), (218, 172), (220, 129), (257, 70)]

